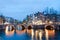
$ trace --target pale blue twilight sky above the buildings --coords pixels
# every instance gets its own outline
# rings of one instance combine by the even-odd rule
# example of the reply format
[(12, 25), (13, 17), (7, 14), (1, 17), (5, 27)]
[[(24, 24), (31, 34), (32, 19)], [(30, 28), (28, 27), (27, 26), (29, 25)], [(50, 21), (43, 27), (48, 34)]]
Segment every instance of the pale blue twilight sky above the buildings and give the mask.
[(46, 7), (59, 10), (60, 0), (0, 0), (0, 13), (18, 20)]

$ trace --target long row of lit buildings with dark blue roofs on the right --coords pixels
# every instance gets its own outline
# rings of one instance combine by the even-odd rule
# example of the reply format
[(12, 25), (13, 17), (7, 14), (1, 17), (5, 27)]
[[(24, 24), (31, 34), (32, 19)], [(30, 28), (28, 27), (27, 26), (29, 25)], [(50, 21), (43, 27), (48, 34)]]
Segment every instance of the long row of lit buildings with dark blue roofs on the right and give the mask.
[(35, 23), (37, 21), (42, 21), (42, 22), (46, 22), (46, 21), (52, 21), (52, 22), (60, 22), (60, 14), (57, 13), (44, 13), (44, 12), (38, 12), (36, 14), (31, 14), (29, 16), (29, 22), (28, 23)]

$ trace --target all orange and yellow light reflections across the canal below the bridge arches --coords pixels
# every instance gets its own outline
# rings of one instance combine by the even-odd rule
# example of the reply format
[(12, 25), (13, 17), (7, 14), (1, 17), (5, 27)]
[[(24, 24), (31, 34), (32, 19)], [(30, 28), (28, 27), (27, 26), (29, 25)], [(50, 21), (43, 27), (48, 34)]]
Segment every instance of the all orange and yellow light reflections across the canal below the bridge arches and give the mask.
[[(43, 30), (40, 30), (40, 29), (36, 30), (36, 31), (34, 29), (23, 30), (23, 31), (16, 30), (16, 33), (17, 34), (23, 34), (26, 31), (31, 35), (32, 40), (34, 40), (34, 37), (35, 37), (35, 40), (43, 40), (42, 39), (43, 34), (45, 34), (46, 40), (49, 40), (49, 37), (53, 37), (55, 35), (55, 30), (47, 30), (47, 29), (45, 29), (45, 32)], [(11, 36), (14, 34), (14, 30), (8, 31), (8, 27), (6, 27), (5, 34), (8, 36)]]

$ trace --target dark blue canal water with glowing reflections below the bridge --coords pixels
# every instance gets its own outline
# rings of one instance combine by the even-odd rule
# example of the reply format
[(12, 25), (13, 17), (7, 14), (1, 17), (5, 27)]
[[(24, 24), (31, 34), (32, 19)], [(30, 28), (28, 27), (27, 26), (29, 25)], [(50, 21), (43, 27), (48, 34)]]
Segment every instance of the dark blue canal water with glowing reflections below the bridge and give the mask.
[(55, 30), (0, 31), (0, 40), (60, 40), (60, 32)]

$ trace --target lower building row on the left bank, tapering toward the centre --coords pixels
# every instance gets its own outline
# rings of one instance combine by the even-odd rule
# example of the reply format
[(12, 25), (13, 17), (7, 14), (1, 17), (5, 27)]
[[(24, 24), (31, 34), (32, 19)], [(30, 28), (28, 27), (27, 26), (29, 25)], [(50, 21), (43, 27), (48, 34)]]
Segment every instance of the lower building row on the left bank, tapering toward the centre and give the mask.
[(6, 23), (11, 23), (11, 24), (18, 24), (20, 21), (16, 20), (12, 17), (5, 17), (3, 15), (0, 15), (0, 25), (6, 24)]

